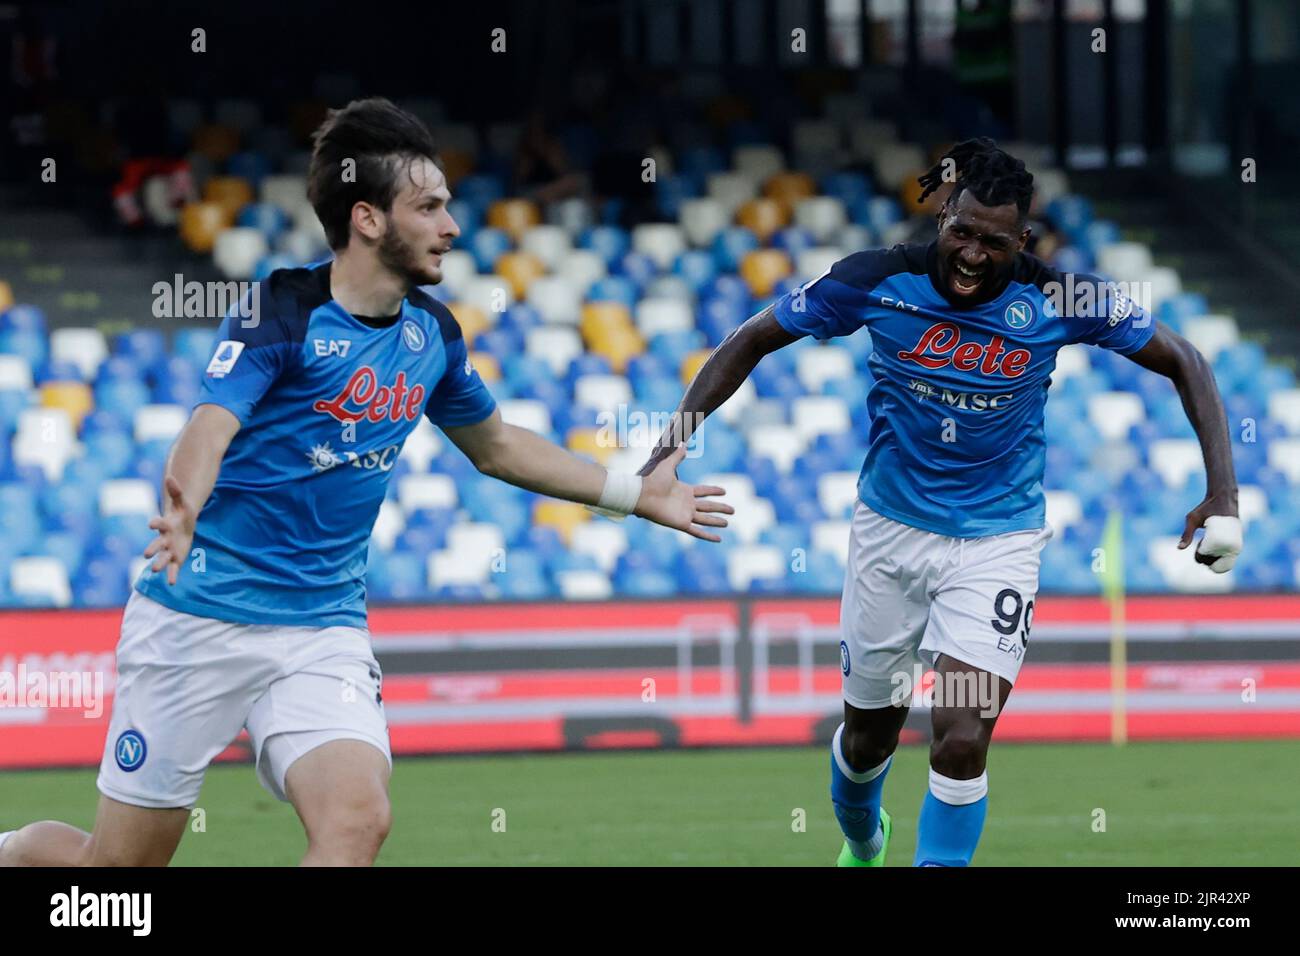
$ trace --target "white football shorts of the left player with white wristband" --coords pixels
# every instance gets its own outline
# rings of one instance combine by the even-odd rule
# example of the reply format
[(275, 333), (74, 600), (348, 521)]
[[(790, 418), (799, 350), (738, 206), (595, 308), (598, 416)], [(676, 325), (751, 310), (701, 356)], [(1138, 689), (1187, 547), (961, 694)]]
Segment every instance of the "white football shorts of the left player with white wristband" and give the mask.
[(131, 592), (99, 790), (124, 804), (192, 808), (208, 765), (248, 730), (257, 779), (330, 740), (364, 740), (393, 765), (384, 675), (360, 627), (234, 624)]

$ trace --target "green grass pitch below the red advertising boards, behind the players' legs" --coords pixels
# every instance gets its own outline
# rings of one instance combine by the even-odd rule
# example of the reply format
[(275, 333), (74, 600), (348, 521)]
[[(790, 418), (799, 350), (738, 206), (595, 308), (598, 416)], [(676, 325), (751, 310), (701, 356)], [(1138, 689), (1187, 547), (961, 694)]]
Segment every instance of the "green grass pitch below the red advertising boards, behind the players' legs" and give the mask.
[[(994, 744), (975, 865), (1294, 865), (1297, 754), (1286, 740)], [(380, 864), (827, 866), (840, 848), (828, 761), (822, 748), (399, 758)], [(890, 866), (911, 864), (926, 771), (924, 748), (898, 750)], [(96, 799), (92, 770), (0, 773), (0, 830), (88, 829)], [(177, 865), (292, 865), (306, 847), (248, 765), (209, 770), (199, 805), (207, 829), (186, 834)]]

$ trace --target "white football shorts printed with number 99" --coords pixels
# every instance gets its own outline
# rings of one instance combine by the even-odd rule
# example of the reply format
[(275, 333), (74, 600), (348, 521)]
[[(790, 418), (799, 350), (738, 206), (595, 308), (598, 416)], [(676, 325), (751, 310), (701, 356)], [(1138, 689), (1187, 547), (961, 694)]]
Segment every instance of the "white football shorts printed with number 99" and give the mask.
[(1049, 527), (948, 537), (853, 511), (840, 604), (844, 700), (874, 710), (911, 701), (939, 654), (1015, 683), (1030, 643)]

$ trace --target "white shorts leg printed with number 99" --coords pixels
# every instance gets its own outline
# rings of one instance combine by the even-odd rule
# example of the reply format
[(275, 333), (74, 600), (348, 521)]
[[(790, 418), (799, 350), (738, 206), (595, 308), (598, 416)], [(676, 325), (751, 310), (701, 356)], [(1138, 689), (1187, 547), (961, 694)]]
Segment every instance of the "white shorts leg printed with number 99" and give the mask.
[(997, 708), (997, 679), (1015, 683), (1030, 648), (1039, 559), (1049, 537), (1044, 529), (971, 538), (961, 564), (936, 591), (922, 656), (933, 663), (946, 654), (967, 665), (935, 688), (936, 696), (948, 692), (949, 705), (965, 696), (982, 710)]

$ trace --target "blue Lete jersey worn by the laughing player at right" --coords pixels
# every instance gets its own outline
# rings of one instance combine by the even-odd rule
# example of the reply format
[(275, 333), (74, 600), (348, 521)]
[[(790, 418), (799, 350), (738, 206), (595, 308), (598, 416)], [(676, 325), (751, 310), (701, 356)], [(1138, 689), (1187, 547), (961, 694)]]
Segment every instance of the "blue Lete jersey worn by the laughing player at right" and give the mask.
[(866, 505), (953, 537), (1041, 528), (1057, 351), (1086, 342), (1131, 355), (1156, 324), (1118, 287), (1027, 254), (1000, 295), (953, 304), (936, 263), (935, 242), (855, 252), (777, 299), (776, 320), (823, 339), (870, 330)]

